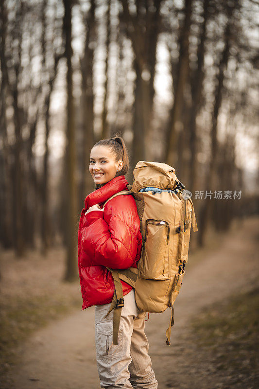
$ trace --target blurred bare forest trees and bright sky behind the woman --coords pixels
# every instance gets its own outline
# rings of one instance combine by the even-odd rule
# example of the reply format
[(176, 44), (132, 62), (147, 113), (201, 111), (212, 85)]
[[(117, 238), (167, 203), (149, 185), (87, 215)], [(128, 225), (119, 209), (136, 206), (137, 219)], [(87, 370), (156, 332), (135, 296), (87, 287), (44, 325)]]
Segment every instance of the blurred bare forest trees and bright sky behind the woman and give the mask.
[(256, 0), (0, 1), (2, 249), (64, 245), (77, 277), (90, 149), (118, 131), (129, 183), (154, 160), (192, 192), (197, 245), (258, 212), (258, 13)]

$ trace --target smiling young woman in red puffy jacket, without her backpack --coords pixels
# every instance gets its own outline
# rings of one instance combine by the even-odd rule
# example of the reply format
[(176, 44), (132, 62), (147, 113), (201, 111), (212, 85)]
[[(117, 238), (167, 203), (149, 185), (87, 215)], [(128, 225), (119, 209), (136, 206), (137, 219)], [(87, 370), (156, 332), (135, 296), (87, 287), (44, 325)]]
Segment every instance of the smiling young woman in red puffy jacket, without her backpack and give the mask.
[(124, 175), (129, 159), (123, 139), (97, 142), (91, 150), (89, 171), (96, 190), (86, 196), (79, 222), (78, 264), (82, 309), (95, 305), (95, 341), (102, 388), (156, 389), (157, 381), (144, 333), (145, 312), (138, 309), (135, 291), (121, 281), (124, 306), (118, 345), (112, 344), (113, 312), (105, 318), (113, 299), (114, 281), (105, 267), (137, 267), (141, 254), (140, 222), (134, 198), (112, 195), (127, 190)]

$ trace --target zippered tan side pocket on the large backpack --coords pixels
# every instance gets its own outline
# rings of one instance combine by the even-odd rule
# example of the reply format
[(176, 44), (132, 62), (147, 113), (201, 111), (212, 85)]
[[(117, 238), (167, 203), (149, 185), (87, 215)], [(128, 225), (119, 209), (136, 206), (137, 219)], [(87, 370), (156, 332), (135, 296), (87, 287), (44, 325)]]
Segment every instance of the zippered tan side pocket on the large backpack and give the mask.
[(170, 225), (164, 220), (147, 219), (139, 277), (168, 280)]

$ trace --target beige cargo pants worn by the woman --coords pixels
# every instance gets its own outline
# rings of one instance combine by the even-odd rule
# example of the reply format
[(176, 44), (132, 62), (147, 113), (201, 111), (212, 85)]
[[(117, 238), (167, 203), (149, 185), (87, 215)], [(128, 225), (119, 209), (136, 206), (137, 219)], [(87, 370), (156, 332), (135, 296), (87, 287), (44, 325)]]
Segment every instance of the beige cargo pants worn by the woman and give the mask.
[(110, 304), (95, 307), (95, 343), (101, 388), (157, 389), (144, 333), (146, 313), (138, 309), (135, 290), (124, 296), (118, 345), (112, 344), (113, 311)]

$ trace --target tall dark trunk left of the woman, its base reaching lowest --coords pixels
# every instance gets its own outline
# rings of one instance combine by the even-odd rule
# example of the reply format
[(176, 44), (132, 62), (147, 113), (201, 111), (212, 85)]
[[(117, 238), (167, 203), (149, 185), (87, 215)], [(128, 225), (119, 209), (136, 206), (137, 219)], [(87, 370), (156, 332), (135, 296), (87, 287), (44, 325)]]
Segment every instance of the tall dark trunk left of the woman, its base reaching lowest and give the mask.
[(75, 118), (72, 81), (72, 47), (71, 47), (71, 9), (72, 1), (63, 0), (65, 14), (63, 18), (63, 31), (65, 36), (65, 57), (67, 60), (67, 182), (68, 182), (68, 235), (67, 235), (67, 265), (65, 279), (72, 281), (77, 278), (77, 237), (76, 237), (76, 155), (75, 155)]

